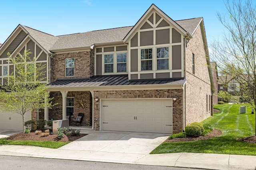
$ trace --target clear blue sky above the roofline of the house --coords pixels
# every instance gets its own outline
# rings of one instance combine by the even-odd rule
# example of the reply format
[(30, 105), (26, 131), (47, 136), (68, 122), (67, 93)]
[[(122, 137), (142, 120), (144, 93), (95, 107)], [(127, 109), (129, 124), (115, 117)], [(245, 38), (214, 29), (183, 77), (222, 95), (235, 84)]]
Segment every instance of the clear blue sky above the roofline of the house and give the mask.
[(226, 13), (225, 0), (0, 0), (0, 43), (18, 24), (66, 35), (133, 26), (155, 4), (172, 20), (204, 18), (208, 44), (224, 27), (217, 12)]

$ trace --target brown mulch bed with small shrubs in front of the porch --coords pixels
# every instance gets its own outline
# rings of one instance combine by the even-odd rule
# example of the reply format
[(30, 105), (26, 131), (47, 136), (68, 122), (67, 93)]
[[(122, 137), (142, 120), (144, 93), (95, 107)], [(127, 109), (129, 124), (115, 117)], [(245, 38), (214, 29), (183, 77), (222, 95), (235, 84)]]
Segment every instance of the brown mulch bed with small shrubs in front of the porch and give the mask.
[[(43, 133), (43, 132), (42, 132)], [(64, 134), (62, 139), (58, 139), (56, 134), (51, 134), (47, 137), (42, 137), (41, 135), (36, 135), (34, 132), (30, 133), (18, 133), (7, 137), (8, 140), (19, 140), (19, 141), (59, 141), (59, 142), (72, 142), (87, 134), (80, 133), (80, 136), (71, 136)]]

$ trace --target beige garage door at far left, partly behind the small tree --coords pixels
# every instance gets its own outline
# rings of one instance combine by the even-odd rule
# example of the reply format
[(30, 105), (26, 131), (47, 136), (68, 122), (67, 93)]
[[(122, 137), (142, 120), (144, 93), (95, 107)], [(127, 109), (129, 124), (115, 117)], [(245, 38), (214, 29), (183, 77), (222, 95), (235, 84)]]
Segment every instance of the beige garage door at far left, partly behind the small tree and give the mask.
[[(25, 121), (31, 120), (31, 112), (25, 113)], [(0, 129), (22, 131), (22, 115), (18, 113), (0, 112)]]

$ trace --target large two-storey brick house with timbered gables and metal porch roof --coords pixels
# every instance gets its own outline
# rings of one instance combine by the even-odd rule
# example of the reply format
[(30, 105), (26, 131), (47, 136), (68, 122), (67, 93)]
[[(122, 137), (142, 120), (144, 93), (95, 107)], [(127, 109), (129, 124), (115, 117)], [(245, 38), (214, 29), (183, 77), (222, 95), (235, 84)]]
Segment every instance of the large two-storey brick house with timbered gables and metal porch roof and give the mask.
[(18, 25), (0, 48), (0, 78), (13, 70), (7, 52), (25, 49), (47, 64), (58, 103), (32, 119), (84, 113), (82, 125), (96, 130), (178, 133), (212, 113), (203, 18), (174, 21), (152, 4), (131, 27), (53, 36)]

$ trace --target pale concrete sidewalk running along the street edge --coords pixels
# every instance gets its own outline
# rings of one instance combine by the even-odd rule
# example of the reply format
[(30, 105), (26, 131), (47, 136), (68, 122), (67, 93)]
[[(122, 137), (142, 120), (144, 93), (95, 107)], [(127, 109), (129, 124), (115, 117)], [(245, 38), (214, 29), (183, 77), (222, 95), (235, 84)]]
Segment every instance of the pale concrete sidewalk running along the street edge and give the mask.
[(255, 170), (256, 156), (172, 153), (172, 154), (135, 154), (88, 150), (49, 149), (33, 146), (0, 145), (0, 155), (86, 160), (214, 170)]

